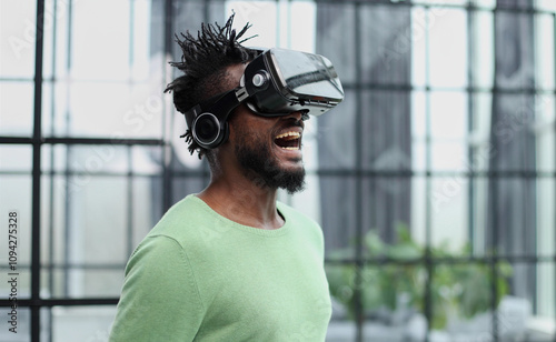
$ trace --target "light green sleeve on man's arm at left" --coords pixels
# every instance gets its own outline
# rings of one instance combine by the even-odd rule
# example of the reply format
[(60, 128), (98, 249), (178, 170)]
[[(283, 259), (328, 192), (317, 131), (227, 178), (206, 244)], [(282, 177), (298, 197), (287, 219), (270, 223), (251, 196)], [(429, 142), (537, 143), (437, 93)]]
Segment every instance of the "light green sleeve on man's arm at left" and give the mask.
[(151, 237), (128, 262), (109, 341), (192, 341), (202, 315), (186, 252), (171, 238)]

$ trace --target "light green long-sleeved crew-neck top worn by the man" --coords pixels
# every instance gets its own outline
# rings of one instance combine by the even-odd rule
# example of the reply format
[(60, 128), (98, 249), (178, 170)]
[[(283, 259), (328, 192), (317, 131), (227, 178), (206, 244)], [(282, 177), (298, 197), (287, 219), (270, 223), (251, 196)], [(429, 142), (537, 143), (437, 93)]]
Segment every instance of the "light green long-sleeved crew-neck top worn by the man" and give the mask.
[(261, 230), (195, 195), (173, 205), (128, 262), (110, 341), (324, 341), (321, 230), (277, 208), (285, 225)]

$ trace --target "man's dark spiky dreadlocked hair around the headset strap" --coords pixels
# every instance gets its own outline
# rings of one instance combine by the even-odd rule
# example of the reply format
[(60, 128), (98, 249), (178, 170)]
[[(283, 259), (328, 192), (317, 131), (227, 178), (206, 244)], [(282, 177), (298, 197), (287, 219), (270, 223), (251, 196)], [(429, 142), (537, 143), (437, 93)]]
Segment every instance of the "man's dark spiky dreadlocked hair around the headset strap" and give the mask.
[[(245, 48), (241, 43), (252, 37), (239, 40), (251, 27), (247, 23), (239, 33), (231, 29), (234, 14), (230, 16), (224, 27), (215, 24), (201, 24), (197, 38), (189, 31), (181, 33), (182, 40), (176, 34), (176, 41), (181, 47), (182, 56), (180, 62), (170, 62), (172, 67), (183, 72), (183, 76), (167, 86), (165, 92), (173, 92), (173, 104), (176, 109), (185, 113), (197, 103), (209, 99), (220, 92), (236, 87), (226, 77), (226, 68), (229, 66), (246, 63), (252, 60), (256, 51)], [(189, 143), (189, 152), (198, 151), (199, 159), (207, 150), (195, 142), (190, 128), (181, 138)]]

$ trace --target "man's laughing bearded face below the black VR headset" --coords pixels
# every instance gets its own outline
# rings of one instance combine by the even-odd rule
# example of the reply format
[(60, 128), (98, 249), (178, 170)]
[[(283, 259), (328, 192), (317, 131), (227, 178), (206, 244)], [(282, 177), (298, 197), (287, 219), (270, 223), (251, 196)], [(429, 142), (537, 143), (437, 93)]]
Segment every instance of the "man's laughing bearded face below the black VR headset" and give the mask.
[[(229, 72), (239, 83), (244, 70), (245, 66), (235, 66)], [(305, 125), (300, 112), (266, 118), (241, 104), (229, 124), (236, 158), (257, 184), (282, 188), (289, 193), (304, 189), (301, 138)]]

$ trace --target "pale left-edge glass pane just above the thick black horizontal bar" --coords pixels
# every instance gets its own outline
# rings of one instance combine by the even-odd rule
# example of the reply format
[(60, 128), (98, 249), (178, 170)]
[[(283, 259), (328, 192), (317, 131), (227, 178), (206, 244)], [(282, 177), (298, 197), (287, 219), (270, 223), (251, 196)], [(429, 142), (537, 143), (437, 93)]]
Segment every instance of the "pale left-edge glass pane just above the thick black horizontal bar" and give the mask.
[(0, 82), (0, 135), (32, 134), (33, 89), (31, 82)]

